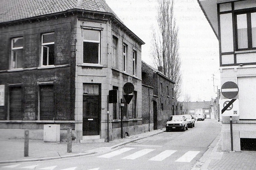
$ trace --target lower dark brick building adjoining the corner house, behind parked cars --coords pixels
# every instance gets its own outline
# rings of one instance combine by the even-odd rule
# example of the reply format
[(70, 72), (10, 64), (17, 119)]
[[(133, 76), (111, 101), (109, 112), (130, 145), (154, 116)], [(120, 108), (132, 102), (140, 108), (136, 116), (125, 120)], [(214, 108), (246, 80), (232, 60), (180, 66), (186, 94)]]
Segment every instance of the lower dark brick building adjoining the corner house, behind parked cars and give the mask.
[(149, 119), (150, 124), (153, 123), (153, 129), (159, 129), (165, 127), (166, 121), (171, 115), (180, 114), (182, 106), (176, 99), (175, 82), (145, 62), (142, 61), (141, 65), (142, 101), (145, 102), (145, 105), (150, 105), (149, 109), (143, 107), (143, 121)]

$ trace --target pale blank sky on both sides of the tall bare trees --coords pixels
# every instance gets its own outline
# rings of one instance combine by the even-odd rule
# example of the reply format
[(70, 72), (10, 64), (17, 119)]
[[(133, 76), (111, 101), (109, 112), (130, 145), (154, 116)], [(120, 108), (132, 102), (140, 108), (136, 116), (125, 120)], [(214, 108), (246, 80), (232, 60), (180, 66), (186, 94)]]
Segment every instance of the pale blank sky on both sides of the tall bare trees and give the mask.
[[(142, 60), (153, 66), (152, 27), (157, 26), (157, 0), (105, 0), (122, 22), (140, 39)], [(218, 40), (197, 0), (175, 0), (179, 28), (182, 85), (180, 102), (210, 101), (220, 89)]]

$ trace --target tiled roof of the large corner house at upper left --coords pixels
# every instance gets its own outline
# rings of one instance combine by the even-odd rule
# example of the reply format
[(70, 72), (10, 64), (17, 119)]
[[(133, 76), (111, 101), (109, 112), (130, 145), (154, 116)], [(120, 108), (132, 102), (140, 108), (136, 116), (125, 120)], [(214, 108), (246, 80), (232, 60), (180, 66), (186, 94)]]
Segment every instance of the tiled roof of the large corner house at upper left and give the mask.
[(105, 0), (1, 0), (0, 23), (71, 9), (108, 12), (117, 17)]

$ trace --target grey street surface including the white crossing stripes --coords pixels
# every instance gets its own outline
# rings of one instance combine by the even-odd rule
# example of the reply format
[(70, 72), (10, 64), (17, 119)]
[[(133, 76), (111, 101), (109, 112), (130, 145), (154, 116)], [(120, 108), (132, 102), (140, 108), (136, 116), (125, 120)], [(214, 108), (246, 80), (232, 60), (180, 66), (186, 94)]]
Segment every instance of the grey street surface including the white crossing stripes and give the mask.
[(0, 170), (191, 170), (220, 130), (218, 122), (206, 119), (185, 132), (163, 132), (106, 153), (1, 164)]

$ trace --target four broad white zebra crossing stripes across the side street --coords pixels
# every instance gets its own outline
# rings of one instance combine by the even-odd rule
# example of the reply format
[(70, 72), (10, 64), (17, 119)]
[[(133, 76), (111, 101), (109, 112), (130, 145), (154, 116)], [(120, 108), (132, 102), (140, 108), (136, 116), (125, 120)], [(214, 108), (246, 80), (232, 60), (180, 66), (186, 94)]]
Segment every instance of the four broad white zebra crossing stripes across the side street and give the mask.
[[(121, 155), (122, 153), (128, 152), (133, 149), (134, 148), (132, 148), (132, 147), (124, 147), (122, 149), (115, 150), (113, 152), (98, 156), (98, 158), (111, 158), (114, 156)], [(132, 153), (131, 155), (122, 157), (121, 159), (134, 160), (134, 159), (140, 158), (152, 151), (154, 151), (154, 149), (142, 149), (135, 153)], [(163, 161), (164, 159), (167, 159), (168, 157), (172, 156), (176, 152), (177, 152), (177, 150), (164, 150), (163, 152), (158, 153), (156, 156), (152, 157), (151, 159), (148, 159), (148, 161)], [(179, 159), (177, 159), (176, 162), (190, 162), (195, 158), (195, 156), (198, 155), (198, 153), (200, 153), (200, 151), (187, 151)]]

